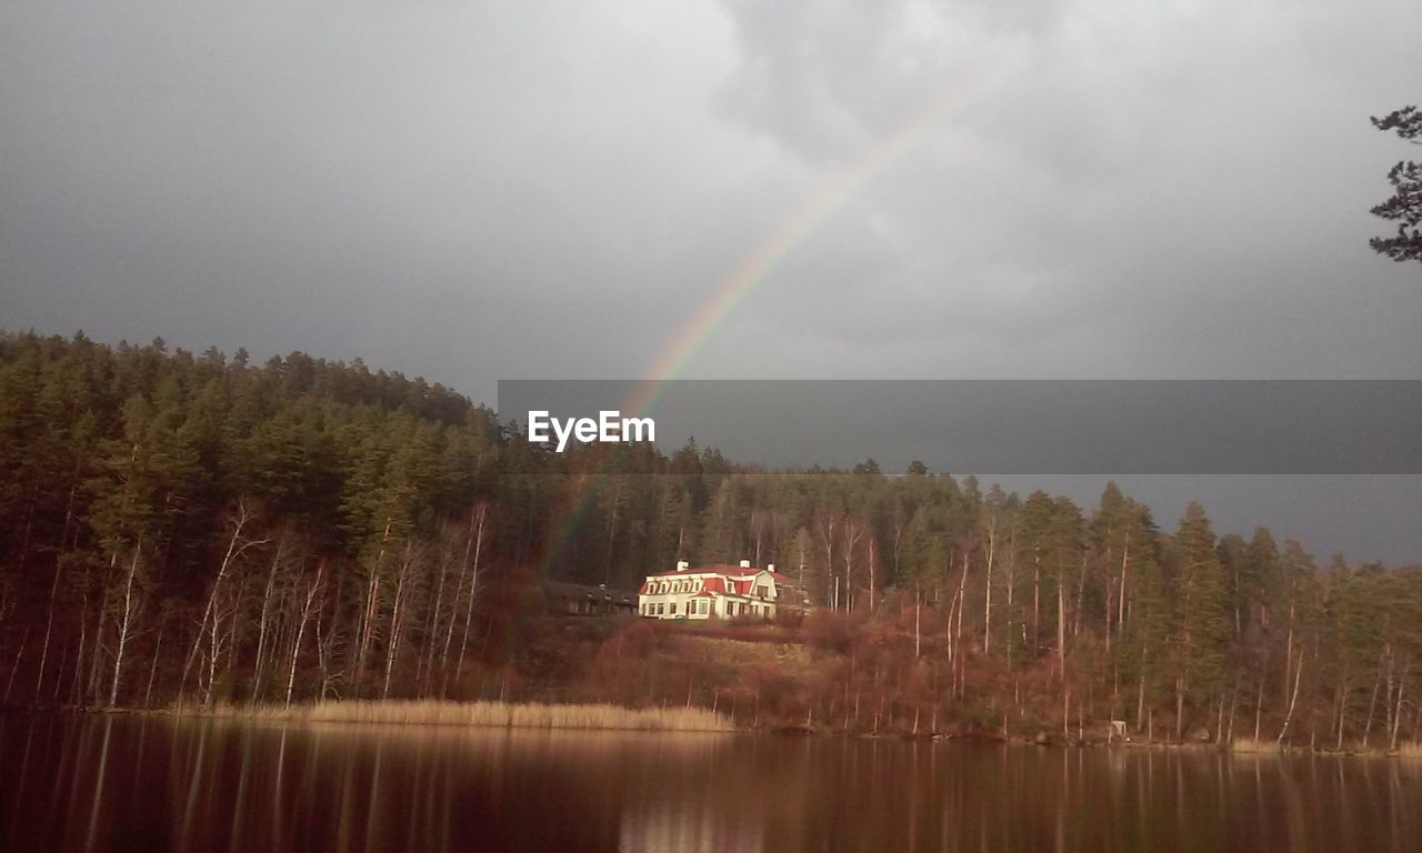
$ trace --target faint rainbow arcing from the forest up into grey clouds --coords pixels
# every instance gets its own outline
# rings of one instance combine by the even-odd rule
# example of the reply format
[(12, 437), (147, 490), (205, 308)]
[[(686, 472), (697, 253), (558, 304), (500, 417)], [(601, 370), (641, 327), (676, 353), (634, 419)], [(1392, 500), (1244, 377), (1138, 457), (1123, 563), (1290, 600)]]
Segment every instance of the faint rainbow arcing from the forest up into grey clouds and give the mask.
[[(933, 131), (948, 115), (985, 95), (1008, 75), (1018, 71), (1027, 57), (1025, 43), (1014, 44), (1000, 54), (994, 63), (980, 68), (967, 80), (931, 98), (909, 115), (893, 132), (880, 139), (869, 151), (850, 162), (848, 168), (822, 181), (813, 192), (796, 205), (789, 216), (761, 240), (755, 249), (742, 257), (729, 273), (702, 300), (700, 309), (671, 336), (670, 343), (658, 355), (646, 378), (633, 387), (623, 412), (638, 417), (650, 415), (668, 382), (685, 372), (697, 355), (725, 326), (745, 301), (795, 254), (829, 219), (843, 210), (862, 195), (873, 181), (887, 172), (906, 154), (929, 139)], [(582, 489), (582, 496), (569, 513), (562, 530), (555, 536), (549, 557), (556, 559), (567, 539), (577, 530), (582, 519), (592, 509), (607, 475), (590, 478)]]

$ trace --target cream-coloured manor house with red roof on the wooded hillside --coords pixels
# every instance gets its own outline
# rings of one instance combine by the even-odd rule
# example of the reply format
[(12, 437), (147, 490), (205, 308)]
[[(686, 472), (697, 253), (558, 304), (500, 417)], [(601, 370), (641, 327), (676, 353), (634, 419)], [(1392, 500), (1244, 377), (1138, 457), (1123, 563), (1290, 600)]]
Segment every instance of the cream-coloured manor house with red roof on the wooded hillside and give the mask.
[(802, 597), (775, 564), (755, 569), (715, 563), (693, 569), (681, 560), (671, 572), (648, 574), (637, 596), (637, 611), (647, 618), (771, 618), (776, 608), (799, 608)]

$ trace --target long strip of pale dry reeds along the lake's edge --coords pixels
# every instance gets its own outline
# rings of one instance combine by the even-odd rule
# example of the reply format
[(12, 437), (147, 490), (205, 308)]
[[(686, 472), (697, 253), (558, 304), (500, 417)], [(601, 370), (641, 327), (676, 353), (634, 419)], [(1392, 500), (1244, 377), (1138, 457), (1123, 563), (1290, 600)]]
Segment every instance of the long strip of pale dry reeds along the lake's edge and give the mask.
[(705, 708), (623, 708), (437, 699), (336, 699), (301, 705), (173, 707), (175, 717), (270, 722), (363, 722), (381, 725), (478, 725), (546, 729), (729, 732), (735, 726)]

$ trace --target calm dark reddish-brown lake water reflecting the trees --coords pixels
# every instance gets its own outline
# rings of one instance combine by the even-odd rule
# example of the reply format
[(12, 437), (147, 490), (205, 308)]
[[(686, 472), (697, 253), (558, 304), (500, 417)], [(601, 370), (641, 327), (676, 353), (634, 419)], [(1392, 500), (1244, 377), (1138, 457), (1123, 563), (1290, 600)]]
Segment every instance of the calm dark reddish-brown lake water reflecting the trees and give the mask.
[(7, 850), (1422, 850), (1422, 762), (0, 715)]

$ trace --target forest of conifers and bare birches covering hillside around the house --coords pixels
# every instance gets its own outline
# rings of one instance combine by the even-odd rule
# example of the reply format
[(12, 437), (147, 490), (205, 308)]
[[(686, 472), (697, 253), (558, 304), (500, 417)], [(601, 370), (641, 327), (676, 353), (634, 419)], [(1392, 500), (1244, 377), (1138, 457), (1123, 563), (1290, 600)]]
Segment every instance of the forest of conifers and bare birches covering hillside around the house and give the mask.
[[(813, 610), (695, 637), (539, 587), (738, 559)], [(360, 360), (0, 336), (4, 707), (508, 697), (1396, 748), (1419, 654), (1422, 566), (1320, 563), (1197, 503), (1165, 523), (1113, 483), (1091, 508), (921, 463), (553, 454)]]

